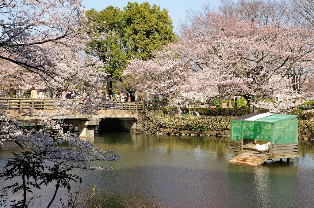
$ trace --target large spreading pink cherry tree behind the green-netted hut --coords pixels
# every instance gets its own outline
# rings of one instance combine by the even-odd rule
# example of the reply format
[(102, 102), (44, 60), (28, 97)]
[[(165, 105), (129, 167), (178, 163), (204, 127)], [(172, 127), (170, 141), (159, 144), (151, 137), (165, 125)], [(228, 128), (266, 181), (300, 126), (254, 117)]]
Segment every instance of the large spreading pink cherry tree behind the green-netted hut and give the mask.
[(269, 82), (273, 76), (304, 64), (312, 53), (311, 31), (297, 26), (264, 25), (217, 13), (196, 18), (194, 24), (181, 31), (178, 51), (196, 70), (206, 68), (206, 74), (214, 75), (208, 81), (219, 83), (221, 96), (233, 91), (250, 103), (262, 101), (280, 88), (279, 82)]

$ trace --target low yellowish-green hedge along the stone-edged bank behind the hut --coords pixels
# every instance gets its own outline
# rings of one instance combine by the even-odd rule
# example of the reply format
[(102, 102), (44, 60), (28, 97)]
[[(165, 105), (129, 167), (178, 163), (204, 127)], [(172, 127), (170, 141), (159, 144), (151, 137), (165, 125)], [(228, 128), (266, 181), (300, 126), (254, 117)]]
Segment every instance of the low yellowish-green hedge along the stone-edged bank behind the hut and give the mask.
[[(152, 123), (160, 128), (175, 130), (190, 130), (195, 127), (194, 131), (206, 128), (206, 131), (230, 131), (230, 119), (234, 117), (227, 116), (167, 116), (154, 113), (148, 114)], [(299, 120), (299, 135), (314, 135), (314, 122)]]

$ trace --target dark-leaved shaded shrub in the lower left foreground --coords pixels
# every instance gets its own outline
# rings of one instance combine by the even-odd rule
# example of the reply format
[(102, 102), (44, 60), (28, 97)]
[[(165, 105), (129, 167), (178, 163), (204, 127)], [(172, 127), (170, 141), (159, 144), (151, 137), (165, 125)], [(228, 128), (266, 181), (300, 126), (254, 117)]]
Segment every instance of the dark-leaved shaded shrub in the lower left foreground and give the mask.
[[(37, 159), (30, 152), (23, 152), (21, 154), (14, 154), (13, 158), (8, 159), (6, 166), (0, 173), (0, 178), (5, 180), (12, 180), (14, 183), (8, 185), (2, 189), (2, 191), (12, 190), (12, 194), (17, 192), (23, 193), (23, 199), (19, 201), (11, 201), (12, 207), (29, 207), (34, 203), (37, 198), (35, 196), (28, 196), (29, 193), (33, 193), (33, 189), (40, 189), (41, 185), (48, 185), (51, 182), (56, 183), (54, 195), (52, 196), (51, 205), (57, 191), (60, 187), (71, 189), (70, 181), (77, 181), (81, 178), (75, 174), (68, 174), (72, 168), (62, 167), (61, 164), (54, 164), (51, 166), (44, 165), (44, 161)], [(0, 195), (0, 204), (5, 204), (7, 196), (5, 194)]]

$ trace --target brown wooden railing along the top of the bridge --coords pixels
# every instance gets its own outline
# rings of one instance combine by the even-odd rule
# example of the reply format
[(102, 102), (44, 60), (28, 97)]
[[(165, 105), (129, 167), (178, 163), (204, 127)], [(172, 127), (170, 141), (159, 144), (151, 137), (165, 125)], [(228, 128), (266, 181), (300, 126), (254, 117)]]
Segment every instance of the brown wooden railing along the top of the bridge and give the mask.
[[(29, 109), (30, 107), (35, 110), (54, 110), (57, 108), (57, 99), (31, 99), (31, 98), (10, 98), (10, 97), (0, 97), (0, 110), (8, 109)], [(84, 105), (85, 100), (74, 100), (71, 102)], [(142, 104), (136, 102), (101, 102), (96, 107), (99, 109), (108, 110), (142, 110)]]

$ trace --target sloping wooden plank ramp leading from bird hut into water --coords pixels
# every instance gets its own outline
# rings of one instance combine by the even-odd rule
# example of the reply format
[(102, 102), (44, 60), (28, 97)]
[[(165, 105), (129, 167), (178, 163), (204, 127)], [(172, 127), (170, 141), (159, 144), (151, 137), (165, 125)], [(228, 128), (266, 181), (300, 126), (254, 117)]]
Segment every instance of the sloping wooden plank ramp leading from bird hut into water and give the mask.
[(245, 164), (245, 165), (261, 165), (269, 159), (269, 154), (259, 154), (253, 151), (244, 151), (232, 158), (230, 163)]

